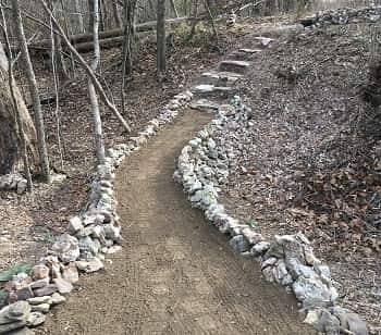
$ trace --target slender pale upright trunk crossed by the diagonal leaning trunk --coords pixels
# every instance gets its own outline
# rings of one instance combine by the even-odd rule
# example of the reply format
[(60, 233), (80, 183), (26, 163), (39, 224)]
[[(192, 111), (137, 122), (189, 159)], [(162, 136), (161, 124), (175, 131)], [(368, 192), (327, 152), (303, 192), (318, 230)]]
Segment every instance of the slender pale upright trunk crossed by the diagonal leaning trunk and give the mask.
[[(93, 22), (94, 22), (94, 60), (91, 64), (91, 70), (94, 72), (97, 71), (99, 60), (100, 60), (100, 47), (99, 47), (99, 2), (98, 0), (94, 0), (94, 12)], [(103, 144), (103, 135), (102, 135), (102, 121), (100, 119), (99, 112), (99, 103), (97, 98), (97, 92), (95, 90), (94, 84), (90, 78), (88, 78), (88, 94), (90, 96), (91, 102), (91, 112), (94, 117), (94, 131), (95, 131), (95, 145), (96, 145), (96, 153), (98, 159), (98, 164), (105, 163), (105, 144)]]

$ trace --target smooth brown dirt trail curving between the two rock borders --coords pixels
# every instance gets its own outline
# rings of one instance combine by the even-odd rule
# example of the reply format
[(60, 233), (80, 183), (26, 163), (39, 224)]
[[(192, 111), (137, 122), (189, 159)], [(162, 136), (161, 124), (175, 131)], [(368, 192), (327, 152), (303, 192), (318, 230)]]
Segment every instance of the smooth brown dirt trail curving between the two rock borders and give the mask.
[(115, 181), (123, 251), (84, 276), (39, 334), (315, 334), (172, 181), (181, 148), (209, 120), (189, 112), (126, 159)]

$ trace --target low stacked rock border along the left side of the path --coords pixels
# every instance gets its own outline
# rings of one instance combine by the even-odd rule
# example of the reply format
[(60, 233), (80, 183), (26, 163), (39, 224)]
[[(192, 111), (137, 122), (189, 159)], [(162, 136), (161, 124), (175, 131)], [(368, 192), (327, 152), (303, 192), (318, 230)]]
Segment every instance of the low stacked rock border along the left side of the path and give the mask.
[[(0, 295), (0, 334), (33, 334), (29, 327), (44, 323), (50, 308), (65, 301), (73, 284), (79, 280), (79, 272), (103, 269), (106, 256), (122, 248), (119, 245), (122, 236), (113, 191), (115, 169), (124, 158), (155, 136), (162, 125), (172, 122), (192, 97), (189, 91), (175, 96), (137, 137), (108, 149), (105, 164), (97, 166), (82, 213), (69, 220), (66, 233), (57, 238), (49, 255), (30, 272), (20, 272), (7, 283), (7, 296)], [(13, 184), (17, 187), (17, 183)]]

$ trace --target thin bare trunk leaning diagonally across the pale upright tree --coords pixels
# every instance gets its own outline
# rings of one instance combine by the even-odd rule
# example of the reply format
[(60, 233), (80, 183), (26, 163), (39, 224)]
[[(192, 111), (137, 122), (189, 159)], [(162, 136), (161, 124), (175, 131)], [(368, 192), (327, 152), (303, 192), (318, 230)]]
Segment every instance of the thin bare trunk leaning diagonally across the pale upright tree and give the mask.
[[(15, 1), (15, 0), (13, 0), (13, 1)], [(53, 22), (58, 33), (61, 34), (62, 41), (65, 44), (67, 49), (71, 52), (73, 52), (73, 55), (78, 61), (81, 67), (83, 67), (85, 70), (85, 72), (87, 73), (87, 75), (91, 78), (91, 82), (93, 82), (93, 84), (95, 86), (95, 89), (99, 94), (100, 98), (103, 100), (105, 104), (111, 110), (111, 112), (121, 122), (121, 124), (123, 125), (124, 129), (127, 133), (131, 133), (131, 128), (130, 128), (128, 124), (125, 122), (125, 120), (123, 119), (121, 113), (118, 111), (116, 107), (108, 99), (108, 97), (106, 96), (106, 92), (105, 92), (102, 86), (100, 85), (100, 83), (97, 79), (96, 75), (94, 74), (93, 70), (87, 65), (86, 61), (82, 58), (82, 55), (72, 46), (72, 44), (70, 42), (67, 36), (64, 34), (62, 27), (60, 26), (60, 24), (57, 22), (56, 17), (52, 15), (51, 11), (49, 10), (47, 3), (44, 0), (38, 0), (38, 1), (39, 1), (39, 3), (41, 3), (41, 5), (42, 5), (44, 10), (47, 12), (47, 14), (50, 15), (51, 21)]]

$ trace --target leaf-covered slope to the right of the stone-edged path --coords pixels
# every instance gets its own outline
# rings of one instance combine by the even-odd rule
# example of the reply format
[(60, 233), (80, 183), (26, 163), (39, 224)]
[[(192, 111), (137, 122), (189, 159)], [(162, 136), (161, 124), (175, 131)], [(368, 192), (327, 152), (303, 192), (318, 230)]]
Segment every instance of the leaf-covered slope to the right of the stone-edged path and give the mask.
[(256, 55), (241, 85), (253, 131), (223, 202), (266, 236), (303, 231), (342, 303), (380, 334), (380, 109), (362, 99), (370, 35), (368, 25), (304, 30)]

